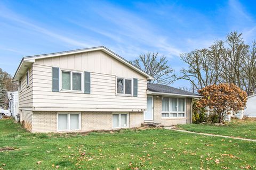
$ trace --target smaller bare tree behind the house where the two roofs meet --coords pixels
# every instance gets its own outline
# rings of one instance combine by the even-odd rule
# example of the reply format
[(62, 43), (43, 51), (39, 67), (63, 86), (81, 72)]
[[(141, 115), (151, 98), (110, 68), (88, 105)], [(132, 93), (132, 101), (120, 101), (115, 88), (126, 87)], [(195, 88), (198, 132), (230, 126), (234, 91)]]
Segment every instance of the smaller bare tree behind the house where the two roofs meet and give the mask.
[(151, 83), (170, 84), (173, 82), (173, 69), (167, 64), (165, 56), (158, 57), (158, 53), (141, 54), (136, 60), (130, 61), (141, 70), (155, 78)]

